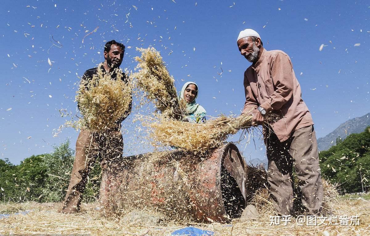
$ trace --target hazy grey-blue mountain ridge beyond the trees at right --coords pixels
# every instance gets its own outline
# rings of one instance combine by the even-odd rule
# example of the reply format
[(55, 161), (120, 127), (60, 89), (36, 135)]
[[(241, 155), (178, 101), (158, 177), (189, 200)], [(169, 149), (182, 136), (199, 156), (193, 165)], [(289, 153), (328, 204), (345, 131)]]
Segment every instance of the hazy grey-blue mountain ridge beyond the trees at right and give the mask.
[(348, 121), (340, 124), (333, 132), (323, 138), (317, 139), (317, 146), (319, 151), (329, 149), (331, 146), (336, 145), (336, 139), (340, 136), (343, 140), (350, 134), (361, 133), (370, 125), (370, 112), (362, 117), (349, 119)]

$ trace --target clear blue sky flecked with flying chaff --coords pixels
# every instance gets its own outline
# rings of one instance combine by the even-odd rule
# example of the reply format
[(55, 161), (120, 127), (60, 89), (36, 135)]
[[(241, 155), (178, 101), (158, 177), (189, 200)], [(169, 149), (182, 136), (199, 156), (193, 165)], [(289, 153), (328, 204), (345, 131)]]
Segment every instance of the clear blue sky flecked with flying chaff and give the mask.
[[(253, 28), (267, 50), (292, 58), (317, 137), (369, 112), (369, 1), (175, 1), (2, 1), (0, 158), (19, 163), (66, 138), (74, 147), (78, 133), (72, 128), (53, 137), (65, 121), (59, 109), (76, 114), (77, 75), (104, 60), (104, 40), (112, 39), (128, 47), (121, 67), (129, 69), (136, 66), (135, 47), (160, 50), (176, 87), (197, 82), (197, 101), (216, 116), (243, 107), (243, 72), (250, 63), (236, 38)], [(61, 45), (53, 45), (52, 36)], [(136, 124), (129, 117), (124, 138), (132, 141)], [(239, 148), (263, 158), (258, 140), (256, 148), (253, 141)]]

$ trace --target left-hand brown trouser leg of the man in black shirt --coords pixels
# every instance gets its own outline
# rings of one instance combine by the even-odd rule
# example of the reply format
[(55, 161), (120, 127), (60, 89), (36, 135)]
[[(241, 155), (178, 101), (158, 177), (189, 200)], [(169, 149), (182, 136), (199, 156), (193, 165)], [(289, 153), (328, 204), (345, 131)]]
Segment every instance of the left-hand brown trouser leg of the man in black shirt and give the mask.
[(80, 211), (82, 194), (97, 155), (98, 146), (95, 142), (95, 135), (92, 132), (81, 130), (76, 142), (76, 157), (62, 212), (75, 213)]

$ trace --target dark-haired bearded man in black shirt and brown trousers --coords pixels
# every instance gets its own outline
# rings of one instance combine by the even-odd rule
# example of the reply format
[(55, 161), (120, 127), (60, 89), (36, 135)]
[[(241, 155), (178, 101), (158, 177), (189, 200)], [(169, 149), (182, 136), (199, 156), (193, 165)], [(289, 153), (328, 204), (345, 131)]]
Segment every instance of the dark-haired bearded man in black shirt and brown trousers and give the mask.
[[(104, 63), (87, 70), (81, 77), (81, 84), (90, 81), (93, 75), (98, 73), (98, 70), (102, 70), (103, 73), (111, 73), (115, 68), (119, 68), (124, 53), (125, 45), (115, 40), (107, 42), (104, 47)], [(117, 74), (115, 72), (111, 73), (111, 78), (115, 80)], [(125, 74), (122, 80), (127, 81)], [(80, 108), (79, 104), (78, 107)], [(61, 212), (76, 213), (80, 211), (80, 204), (88, 175), (98, 156), (101, 158), (101, 166), (104, 170), (107, 168), (107, 161), (111, 161), (117, 156), (122, 155), (123, 139), (120, 132), (121, 122), (128, 116), (130, 111), (131, 105), (125, 117), (117, 121), (117, 126), (104, 134), (87, 130), (80, 131), (76, 142), (76, 157), (73, 163), (71, 179), (63, 208), (60, 210)]]

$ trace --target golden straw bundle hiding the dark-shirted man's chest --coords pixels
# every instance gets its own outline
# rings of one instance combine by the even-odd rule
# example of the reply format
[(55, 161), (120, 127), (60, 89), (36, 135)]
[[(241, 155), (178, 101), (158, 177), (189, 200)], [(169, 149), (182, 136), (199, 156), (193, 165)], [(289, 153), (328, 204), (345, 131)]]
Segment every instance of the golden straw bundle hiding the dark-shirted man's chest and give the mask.
[[(117, 74), (116, 80), (111, 78), (112, 73)], [(111, 73), (102, 71), (100, 64), (91, 80), (81, 82), (76, 101), (83, 118), (77, 122), (77, 128), (108, 130), (117, 127), (117, 122), (128, 115), (132, 86), (122, 80), (123, 76), (119, 68)]]

